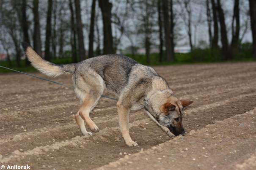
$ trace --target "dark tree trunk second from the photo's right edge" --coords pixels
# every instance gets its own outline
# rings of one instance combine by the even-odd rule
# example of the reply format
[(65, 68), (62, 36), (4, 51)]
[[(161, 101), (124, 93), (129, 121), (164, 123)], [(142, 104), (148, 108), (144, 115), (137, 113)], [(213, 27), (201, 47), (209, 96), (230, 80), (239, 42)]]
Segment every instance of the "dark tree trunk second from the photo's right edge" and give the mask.
[[(236, 21), (236, 26), (234, 26), (235, 21)], [(231, 41), (231, 50), (233, 52), (238, 49), (239, 32), (240, 32), (239, 0), (235, 0), (234, 14), (232, 19), (232, 41)]]

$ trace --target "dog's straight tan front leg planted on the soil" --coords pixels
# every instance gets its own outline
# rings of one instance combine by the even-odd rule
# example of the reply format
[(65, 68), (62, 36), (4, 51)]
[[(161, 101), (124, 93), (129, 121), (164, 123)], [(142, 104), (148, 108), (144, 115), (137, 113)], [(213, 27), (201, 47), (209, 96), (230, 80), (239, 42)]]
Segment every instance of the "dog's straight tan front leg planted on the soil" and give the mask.
[(128, 146), (138, 146), (138, 144), (132, 141), (132, 138), (129, 134), (129, 108), (124, 107), (124, 105), (117, 103), (117, 111), (118, 111), (118, 120), (120, 125), (120, 130), (122, 133), (122, 137), (125, 140), (125, 143)]

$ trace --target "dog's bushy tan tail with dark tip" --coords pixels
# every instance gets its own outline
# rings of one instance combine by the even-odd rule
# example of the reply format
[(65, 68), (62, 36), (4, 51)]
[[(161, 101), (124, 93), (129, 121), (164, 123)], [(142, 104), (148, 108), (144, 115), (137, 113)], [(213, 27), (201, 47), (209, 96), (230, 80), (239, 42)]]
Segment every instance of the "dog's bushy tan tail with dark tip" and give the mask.
[(28, 43), (24, 42), (22, 43), (22, 46), (24, 48), (26, 56), (28, 57), (28, 60), (41, 73), (52, 77), (60, 76), (64, 73), (74, 73), (76, 64), (55, 65), (52, 62), (48, 62), (42, 59)]

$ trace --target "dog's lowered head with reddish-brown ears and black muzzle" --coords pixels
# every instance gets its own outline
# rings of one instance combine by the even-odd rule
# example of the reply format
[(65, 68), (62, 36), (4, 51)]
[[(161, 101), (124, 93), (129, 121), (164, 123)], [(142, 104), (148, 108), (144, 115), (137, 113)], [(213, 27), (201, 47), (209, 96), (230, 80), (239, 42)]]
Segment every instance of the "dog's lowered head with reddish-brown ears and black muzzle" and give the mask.
[(171, 95), (159, 101), (159, 97), (152, 97), (145, 109), (164, 127), (176, 136), (184, 135), (185, 130), (182, 125), (183, 108), (193, 103), (193, 101), (179, 100)]

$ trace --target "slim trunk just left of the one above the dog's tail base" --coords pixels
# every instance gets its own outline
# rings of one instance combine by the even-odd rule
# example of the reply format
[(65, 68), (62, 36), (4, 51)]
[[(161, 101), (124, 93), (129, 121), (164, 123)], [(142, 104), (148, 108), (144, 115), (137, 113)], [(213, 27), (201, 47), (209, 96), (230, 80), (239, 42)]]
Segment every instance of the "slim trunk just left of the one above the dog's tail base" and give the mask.
[(76, 29), (74, 23), (74, 10), (72, 5), (72, 0), (69, 0), (69, 9), (71, 13), (71, 48), (72, 48), (72, 62), (77, 62), (77, 39), (76, 39)]

